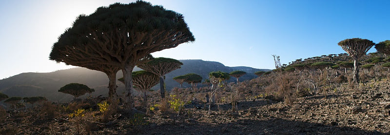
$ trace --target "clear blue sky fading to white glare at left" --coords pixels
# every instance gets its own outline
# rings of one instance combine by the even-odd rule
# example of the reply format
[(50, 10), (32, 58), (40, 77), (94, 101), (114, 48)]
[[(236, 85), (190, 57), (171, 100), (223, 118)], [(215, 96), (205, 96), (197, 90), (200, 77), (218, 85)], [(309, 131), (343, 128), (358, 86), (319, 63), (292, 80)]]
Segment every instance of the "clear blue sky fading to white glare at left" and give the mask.
[[(0, 79), (73, 68), (49, 60), (79, 14), (135, 0), (0, 0)], [(147, 0), (181, 13), (196, 41), (154, 57), (274, 69), (299, 58), (345, 53), (344, 39), (390, 39), (390, 0)], [(375, 52), (371, 48), (369, 52)]]

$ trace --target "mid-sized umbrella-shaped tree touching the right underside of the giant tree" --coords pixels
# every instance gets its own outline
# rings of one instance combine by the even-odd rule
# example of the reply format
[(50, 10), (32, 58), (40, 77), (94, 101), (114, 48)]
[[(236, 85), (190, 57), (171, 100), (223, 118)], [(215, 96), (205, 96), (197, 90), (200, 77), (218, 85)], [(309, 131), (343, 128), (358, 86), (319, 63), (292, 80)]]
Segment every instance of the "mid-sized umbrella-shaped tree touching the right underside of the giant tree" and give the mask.
[(165, 97), (164, 76), (183, 65), (179, 60), (173, 58), (154, 58), (153, 60), (138, 65), (139, 68), (156, 74), (160, 77), (160, 93), (161, 98)]

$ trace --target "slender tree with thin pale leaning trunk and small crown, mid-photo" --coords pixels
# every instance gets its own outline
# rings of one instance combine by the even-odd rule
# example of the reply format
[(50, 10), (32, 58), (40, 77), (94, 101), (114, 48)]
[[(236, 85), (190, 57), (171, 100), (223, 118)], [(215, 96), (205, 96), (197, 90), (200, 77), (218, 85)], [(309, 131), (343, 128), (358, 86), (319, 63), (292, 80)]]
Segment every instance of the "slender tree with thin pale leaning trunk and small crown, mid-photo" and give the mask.
[(217, 72), (211, 72), (209, 74), (209, 80), (212, 84), (211, 86), (211, 96), (210, 96), (210, 99), (209, 99), (209, 115), (210, 115), (210, 109), (211, 109), (211, 105), (213, 104), (213, 102), (215, 101), (215, 92), (218, 91), (223, 85), (224, 85), (224, 81), (225, 80), (228, 80), (230, 78), (229, 74), (226, 73), (226, 72), (221, 72), (221, 71), (217, 71)]

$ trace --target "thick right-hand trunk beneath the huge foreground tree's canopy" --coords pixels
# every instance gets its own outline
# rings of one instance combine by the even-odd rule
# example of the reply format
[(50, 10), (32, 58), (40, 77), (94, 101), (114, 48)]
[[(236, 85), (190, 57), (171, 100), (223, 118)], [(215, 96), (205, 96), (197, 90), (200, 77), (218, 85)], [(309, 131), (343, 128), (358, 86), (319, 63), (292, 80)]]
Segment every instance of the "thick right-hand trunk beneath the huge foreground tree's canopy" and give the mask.
[(133, 80), (132, 72), (134, 66), (126, 66), (125, 69), (122, 69), (123, 79), (125, 82), (125, 109), (131, 111), (134, 108), (134, 97), (133, 97)]

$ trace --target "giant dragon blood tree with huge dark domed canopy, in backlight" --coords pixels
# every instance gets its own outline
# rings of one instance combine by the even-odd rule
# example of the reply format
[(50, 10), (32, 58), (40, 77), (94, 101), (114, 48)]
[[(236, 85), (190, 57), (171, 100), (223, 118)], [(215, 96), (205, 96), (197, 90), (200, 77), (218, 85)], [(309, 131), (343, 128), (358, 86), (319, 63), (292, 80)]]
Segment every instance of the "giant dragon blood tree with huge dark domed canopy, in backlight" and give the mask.
[(175, 11), (141, 0), (114, 3), (99, 7), (91, 15), (78, 16), (54, 43), (50, 59), (93, 70), (102, 67), (110, 73), (122, 70), (125, 107), (131, 111), (132, 72), (137, 61), (192, 41), (195, 38), (183, 15)]

